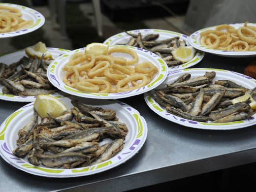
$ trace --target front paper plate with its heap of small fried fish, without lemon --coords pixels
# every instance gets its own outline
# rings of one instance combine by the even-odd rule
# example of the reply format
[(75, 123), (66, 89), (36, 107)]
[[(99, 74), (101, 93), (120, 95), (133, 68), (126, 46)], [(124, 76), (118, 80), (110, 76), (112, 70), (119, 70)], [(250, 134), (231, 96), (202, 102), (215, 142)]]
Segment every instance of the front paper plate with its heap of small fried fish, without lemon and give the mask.
[(139, 112), (118, 100), (60, 99), (68, 111), (40, 118), (29, 103), (0, 126), (0, 155), (12, 166), (45, 177), (78, 177), (132, 158), (147, 137)]

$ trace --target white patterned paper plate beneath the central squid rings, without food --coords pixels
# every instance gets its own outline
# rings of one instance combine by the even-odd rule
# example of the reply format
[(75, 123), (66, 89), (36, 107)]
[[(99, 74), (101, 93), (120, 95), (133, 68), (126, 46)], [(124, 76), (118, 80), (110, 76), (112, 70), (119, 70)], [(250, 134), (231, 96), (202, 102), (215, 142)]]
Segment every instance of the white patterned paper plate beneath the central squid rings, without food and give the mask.
[[(120, 47), (120, 46), (112, 45), (112, 46), (109, 46), (109, 49), (113, 47)], [(135, 96), (135, 95), (145, 93), (149, 90), (152, 90), (158, 85), (160, 85), (160, 83), (164, 81), (168, 73), (166, 63), (159, 56), (149, 51), (135, 48), (135, 47), (129, 47), (129, 46), (126, 46), (126, 47), (136, 51), (139, 57), (139, 61), (137, 62), (138, 64), (141, 62), (149, 61), (158, 67), (159, 72), (154, 75), (150, 84), (136, 90), (123, 92), (123, 93), (115, 93), (115, 94), (98, 94), (98, 93), (82, 92), (65, 85), (63, 82), (64, 71), (62, 68), (67, 63), (69, 57), (72, 54), (79, 51), (84, 52), (85, 48), (76, 49), (68, 54), (65, 54), (64, 56), (57, 58), (54, 62), (52, 62), (47, 69), (48, 79), (59, 90), (66, 92), (70, 95), (87, 97), (87, 98), (100, 98), (100, 99), (106, 99), (106, 98), (116, 99), (116, 98), (125, 98), (129, 96)], [(131, 56), (128, 54), (126, 55), (122, 53), (115, 53), (115, 54), (116, 54), (115, 57), (124, 57), (127, 60), (131, 59)]]

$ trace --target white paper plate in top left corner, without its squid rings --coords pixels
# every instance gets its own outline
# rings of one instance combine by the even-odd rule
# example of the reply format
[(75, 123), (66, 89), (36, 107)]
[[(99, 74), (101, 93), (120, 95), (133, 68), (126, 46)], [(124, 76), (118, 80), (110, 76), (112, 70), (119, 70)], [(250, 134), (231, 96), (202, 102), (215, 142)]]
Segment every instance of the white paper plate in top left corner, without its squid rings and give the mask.
[(10, 38), (10, 37), (26, 34), (29, 32), (33, 32), (39, 29), (40, 27), (42, 27), (45, 22), (44, 16), (38, 11), (33, 10), (32, 8), (25, 7), (23, 5), (18, 5), (18, 4), (10, 4), (10, 3), (0, 3), (0, 5), (18, 8), (22, 12), (22, 16), (21, 16), (22, 19), (33, 21), (33, 25), (26, 29), (16, 31), (16, 32), (0, 33), (0, 38)]

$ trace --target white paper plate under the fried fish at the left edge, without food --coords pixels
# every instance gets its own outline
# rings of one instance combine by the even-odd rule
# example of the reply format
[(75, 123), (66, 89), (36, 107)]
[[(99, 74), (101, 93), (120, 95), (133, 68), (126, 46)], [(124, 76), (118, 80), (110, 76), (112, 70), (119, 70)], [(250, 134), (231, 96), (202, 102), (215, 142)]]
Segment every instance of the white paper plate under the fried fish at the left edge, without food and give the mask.
[[(47, 49), (52, 54), (53, 58), (57, 58), (60, 55), (69, 53), (70, 50), (60, 49), (60, 48), (52, 48), (47, 47)], [(18, 62), (23, 56), (27, 56), (25, 53), (25, 49), (21, 49), (15, 52), (6, 53), (0, 55), (0, 62), (4, 64), (12, 64), (14, 62)], [(0, 85), (0, 99), (9, 100), (9, 101), (19, 101), (19, 102), (32, 102), (35, 100), (36, 96), (13, 96), (13, 95), (4, 95), (2, 94), (3, 86)]]

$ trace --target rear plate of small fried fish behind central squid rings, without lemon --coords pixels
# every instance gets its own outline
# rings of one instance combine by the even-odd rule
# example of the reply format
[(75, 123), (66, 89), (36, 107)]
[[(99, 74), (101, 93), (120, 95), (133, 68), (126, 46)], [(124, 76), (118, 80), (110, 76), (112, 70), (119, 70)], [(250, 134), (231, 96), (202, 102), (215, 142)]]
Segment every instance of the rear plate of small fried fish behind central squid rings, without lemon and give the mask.
[(189, 62), (183, 63), (174, 59), (171, 52), (178, 47), (189, 46), (188, 38), (187, 35), (179, 32), (140, 29), (118, 33), (106, 39), (104, 43), (109, 45), (128, 45), (145, 49), (162, 58), (168, 66), (168, 71), (175, 71), (189, 68), (199, 63), (204, 57), (204, 52), (196, 50), (194, 57)]

